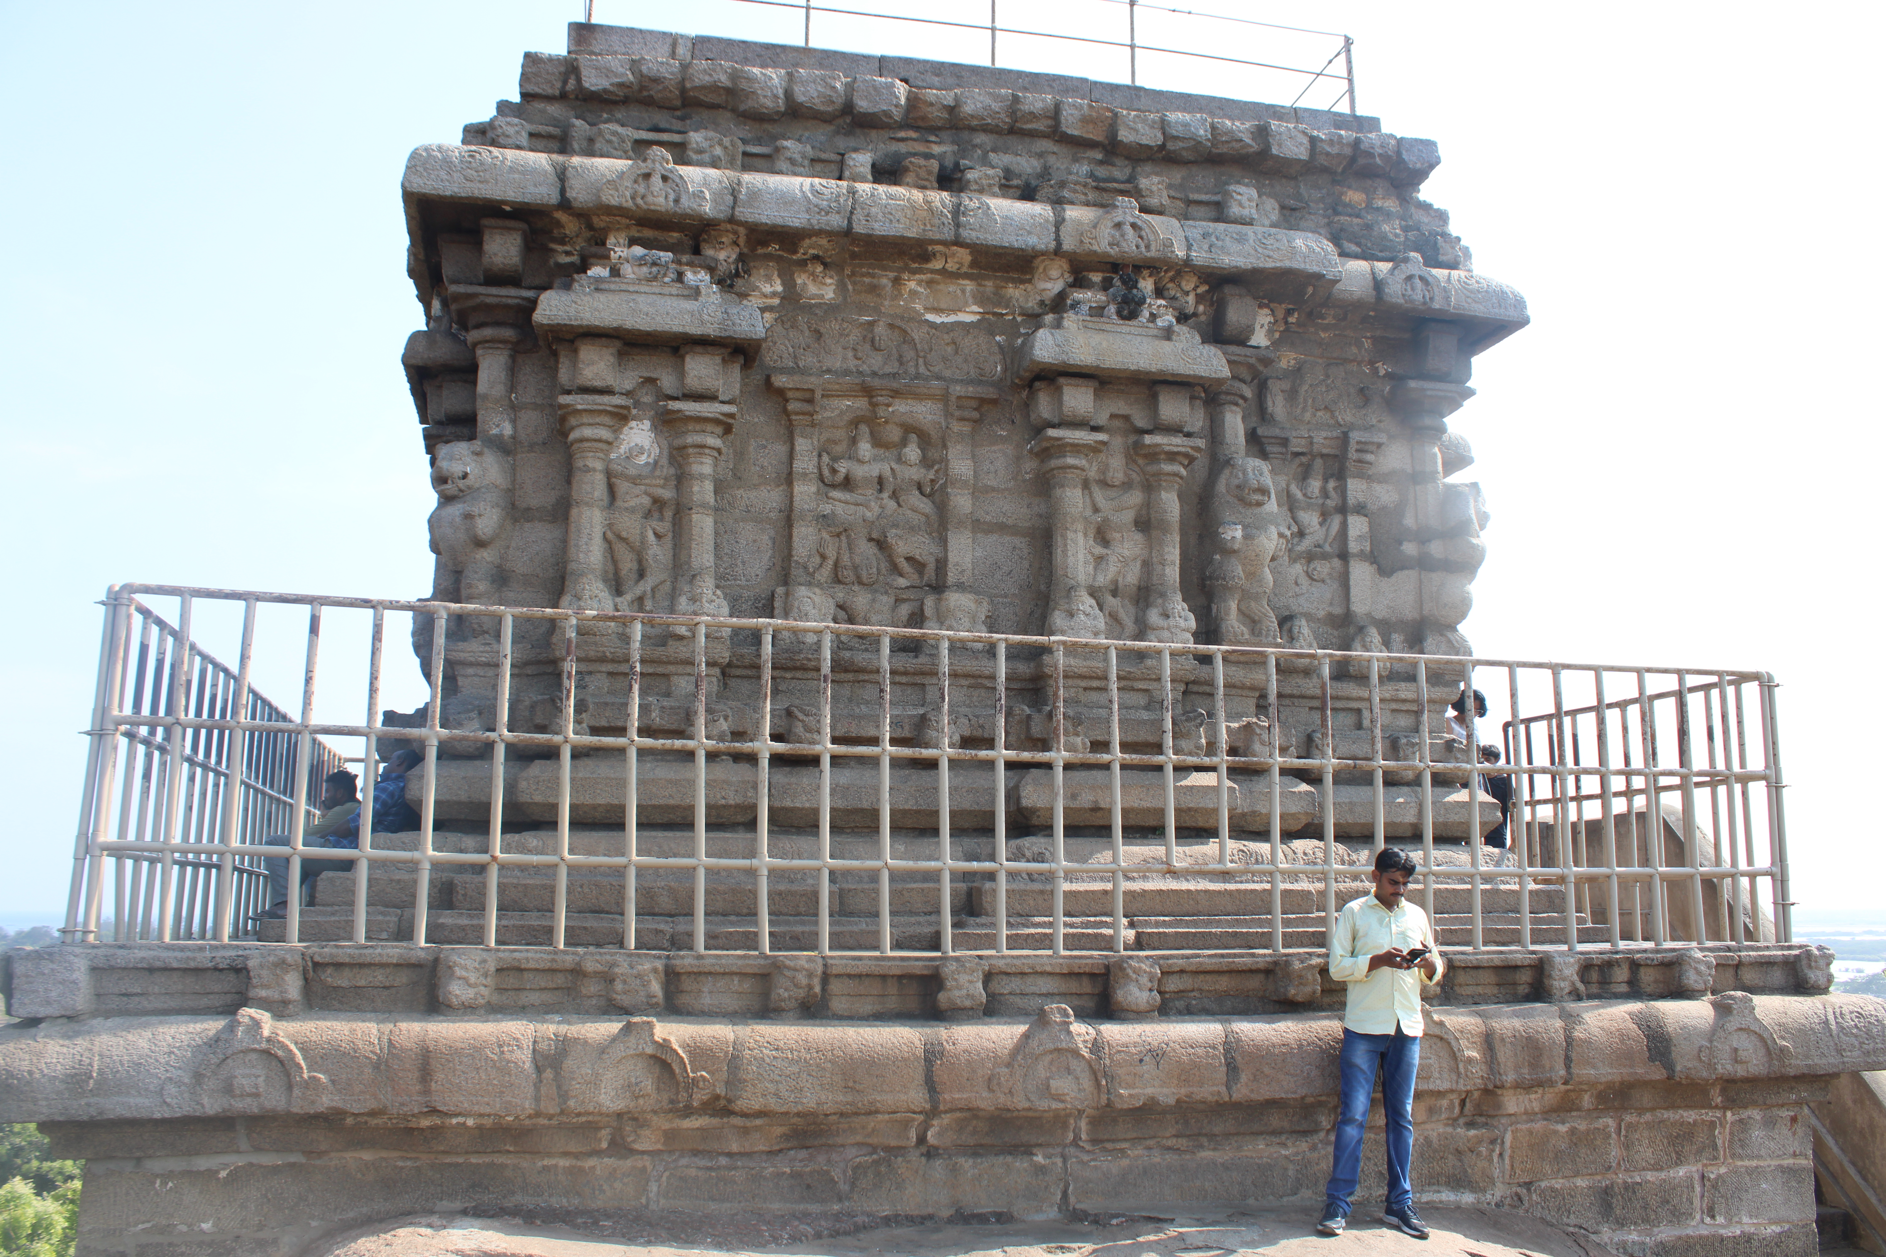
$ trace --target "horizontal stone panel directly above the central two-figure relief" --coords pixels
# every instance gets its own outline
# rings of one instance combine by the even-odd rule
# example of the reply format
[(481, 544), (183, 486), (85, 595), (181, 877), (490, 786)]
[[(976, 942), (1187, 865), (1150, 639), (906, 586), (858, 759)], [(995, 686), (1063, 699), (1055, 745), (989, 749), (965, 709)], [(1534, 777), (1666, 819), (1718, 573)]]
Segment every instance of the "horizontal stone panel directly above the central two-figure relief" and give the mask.
[(894, 318), (819, 318), (788, 313), (766, 337), (775, 369), (900, 379), (1000, 379), (1001, 349), (973, 326), (932, 328)]

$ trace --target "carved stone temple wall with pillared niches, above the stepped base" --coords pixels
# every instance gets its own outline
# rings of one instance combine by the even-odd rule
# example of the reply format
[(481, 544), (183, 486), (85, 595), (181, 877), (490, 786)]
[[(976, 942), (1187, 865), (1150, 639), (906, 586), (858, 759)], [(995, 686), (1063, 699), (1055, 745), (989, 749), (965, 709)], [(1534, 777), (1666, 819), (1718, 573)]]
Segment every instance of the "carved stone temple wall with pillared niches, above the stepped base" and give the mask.
[[(1526, 311), (1418, 200), (1431, 143), (1250, 102), (571, 38), (526, 58), (519, 104), (405, 173), (436, 596), (1469, 650), (1488, 511), (1454, 479), (1473, 456), (1448, 415), (1471, 356)], [(553, 633), (519, 633), (513, 727), (568, 714)], [(715, 720), (737, 737), (792, 720), (753, 707), (754, 646), (709, 641)], [(790, 705), (815, 643), (775, 646)], [(692, 639), (651, 629), (645, 648), (639, 718), (673, 724)], [(449, 722), (488, 726), (494, 626), (453, 620), (445, 654)], [(930, 665), (896, 654), (898, 737), (918, 737)], [(624, 727), (626, 629), (585, 626), (577, 660), (568, 716)], [(1122, 669), (1128, 707), (1152, 703), (1150, 656)], [(1233, 720), (1266, 710), (1260, 671), (1230, 669)], [(1282, 673), (1301, 739), (1316, 680)], [(1045, 703), (1039, 665), (1007, 675), (1011, 710)], [(1196, 675), (1175, 660), (1186, 709), (1209, 705)], [(1341, 737), (1367, 682), (1333, 680)], [(984, 688), (964, 710), (992, 709), (986, 667), (960, 682)], [(1411, 677), (1379, 682), (1413, 731)], [(875, 707), (875, 682), (856, 694)]]

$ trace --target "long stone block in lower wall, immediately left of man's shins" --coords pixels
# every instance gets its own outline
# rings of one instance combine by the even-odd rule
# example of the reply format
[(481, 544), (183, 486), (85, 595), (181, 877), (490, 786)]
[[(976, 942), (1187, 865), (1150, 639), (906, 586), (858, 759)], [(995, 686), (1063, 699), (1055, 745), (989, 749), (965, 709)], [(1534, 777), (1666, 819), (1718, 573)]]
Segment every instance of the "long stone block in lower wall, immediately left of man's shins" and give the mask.
[(1284, 1151), (1079, 1151), (1067, 1161), (1067, 1200), (1081, 1210), (1243, 1204), (1320, 1191), (1326, 1157)]

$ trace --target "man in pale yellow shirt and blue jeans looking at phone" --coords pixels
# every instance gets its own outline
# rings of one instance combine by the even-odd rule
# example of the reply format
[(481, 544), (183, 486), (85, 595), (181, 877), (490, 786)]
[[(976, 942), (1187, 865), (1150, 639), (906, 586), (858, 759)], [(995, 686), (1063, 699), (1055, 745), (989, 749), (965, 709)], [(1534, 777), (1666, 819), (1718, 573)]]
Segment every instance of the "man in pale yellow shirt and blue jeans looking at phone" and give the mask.
[(1388, 1119), (1382, 1221), (1416, 1240), (1428, 1238), (1428, 1227), (1414, 1212), (1409, 1161), (1414, 1155), (1420, 988), (1441, 980), (1441, 957), (1428, 914), (1407, 903), (1416, 867), (1413, 856), (1394, 846), (1377, 852), (1375, 893), (1347, 903), (1330, 935), (1330, 976), (1348, 984), (1348, 1008), (1343, 1012), (1343, 1106), (1335, 1119), (1335, 1155), (1318, 1234), (1341, 1234), (1348, 1223), (1348, 1199), (1362, 1178), (1362, 1131), (1379, 1069)]

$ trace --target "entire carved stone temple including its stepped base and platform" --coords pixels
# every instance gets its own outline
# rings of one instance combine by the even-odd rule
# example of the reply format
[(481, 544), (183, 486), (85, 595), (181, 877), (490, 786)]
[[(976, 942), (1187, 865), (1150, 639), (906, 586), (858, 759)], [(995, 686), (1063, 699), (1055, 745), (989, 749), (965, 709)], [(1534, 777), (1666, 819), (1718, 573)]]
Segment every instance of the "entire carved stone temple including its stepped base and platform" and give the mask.
[[(1812, 1251), (1816, 1199), (1875, 1225), (1886, 1006), (1792, 942), (1773, 678), (1537, 716), (1471, 660), (1452, 418), (1528, 313), (1420, 198), (1437, 164), (1073, 77), (594, 24), (526, 53), (404, 177), (438, 509), (394, 609), (432, 701), (349, 735), (424, 754), (421, 827), (243, 937), (289, 820), (140, 846), (117, 731), (155, 729), (147, 792), (189, 727), (300, 737), (296, 805), (313, 731), (100, 682), (70, 942), (13, 954), (0, 1031), (6, 1116), (89, 1159), (79, 1251), (1313, 1214), (1320, 948), (1382, 842), (1452, 965), (1422, 1200), (1645, 1257)], [(153, 592), (113, 594), (108, 663)], [(1447, 724), (1482, 673), (1531, 769), (1505, 869)]]

